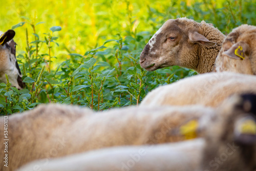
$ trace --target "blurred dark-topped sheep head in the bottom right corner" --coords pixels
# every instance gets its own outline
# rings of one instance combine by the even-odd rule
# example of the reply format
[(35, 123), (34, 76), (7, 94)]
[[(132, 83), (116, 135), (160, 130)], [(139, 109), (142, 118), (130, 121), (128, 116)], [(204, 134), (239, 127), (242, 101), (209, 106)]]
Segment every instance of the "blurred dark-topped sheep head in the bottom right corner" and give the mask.
[(208, 125), (202, 170), (256, 168), (256, 95), (230, 98)]

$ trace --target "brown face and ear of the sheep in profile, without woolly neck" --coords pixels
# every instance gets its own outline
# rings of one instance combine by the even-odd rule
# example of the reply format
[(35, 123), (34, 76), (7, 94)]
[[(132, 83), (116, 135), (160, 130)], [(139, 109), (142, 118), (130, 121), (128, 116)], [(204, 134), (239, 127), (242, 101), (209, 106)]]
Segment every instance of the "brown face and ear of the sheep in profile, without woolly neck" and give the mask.
[(202, 32), (200, 23), (192, 19), (167, 20), (141, 52), (140, 66), (147, 71), (176, 65), (195, 69), (199, 59), (194, 47), (216, 44), (199, 32)]

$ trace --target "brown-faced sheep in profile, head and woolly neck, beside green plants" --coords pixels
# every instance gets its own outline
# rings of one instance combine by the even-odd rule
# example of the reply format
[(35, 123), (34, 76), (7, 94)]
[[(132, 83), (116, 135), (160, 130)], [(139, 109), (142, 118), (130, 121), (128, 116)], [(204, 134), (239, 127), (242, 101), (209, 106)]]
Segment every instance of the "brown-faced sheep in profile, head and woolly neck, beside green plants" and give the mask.
[(148, 41), (140, 54), (140, 66), (154, 71), (169, 66), (208, 73), (214, 67), (225, 35), (212, 24), (193, 19), (169, 19)]

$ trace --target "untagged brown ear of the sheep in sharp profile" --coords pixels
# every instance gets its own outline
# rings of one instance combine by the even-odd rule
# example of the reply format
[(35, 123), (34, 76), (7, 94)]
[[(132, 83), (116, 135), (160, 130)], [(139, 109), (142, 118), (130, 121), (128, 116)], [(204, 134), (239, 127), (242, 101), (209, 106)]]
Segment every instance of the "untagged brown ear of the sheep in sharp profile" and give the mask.
[(199, 34), (198, 32), (191, 32), (188, 34), (188, 37), (189, 37), (189, 40), (194, 44), (200, 44), (203, 46), (216, 45), (216, 42), (208, 40), (206, 37), (204, 37), (202, 34)]

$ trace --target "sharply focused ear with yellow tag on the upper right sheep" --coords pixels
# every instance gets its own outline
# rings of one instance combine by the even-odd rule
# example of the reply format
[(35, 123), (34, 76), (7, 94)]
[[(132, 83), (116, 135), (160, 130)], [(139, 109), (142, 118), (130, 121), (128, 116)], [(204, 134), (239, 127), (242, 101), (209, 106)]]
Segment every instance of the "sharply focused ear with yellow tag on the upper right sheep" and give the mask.
[(233, 58), (233, 59), (244, 59), (245, 53), (249, 50), (249, 45), (246, 44), (246, 42), (239, 41), (236, 44), (234, 44), (231, 48), (229, 48), (227, 51), (223, 52), (222, 54)]

